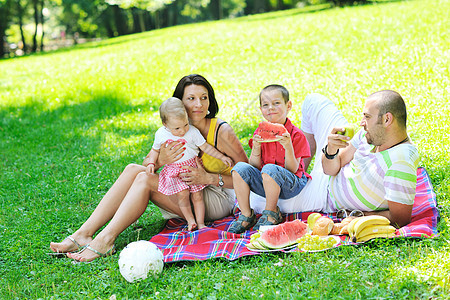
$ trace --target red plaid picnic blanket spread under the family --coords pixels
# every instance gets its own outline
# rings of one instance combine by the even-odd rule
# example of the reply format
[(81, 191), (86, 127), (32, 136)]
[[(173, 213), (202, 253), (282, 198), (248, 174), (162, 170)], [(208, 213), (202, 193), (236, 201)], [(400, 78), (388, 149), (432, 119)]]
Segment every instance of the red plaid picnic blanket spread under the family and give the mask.
[[(245, 246), (255, 231), (243, 234), (229, 233), (226, 230), (238, 216), (217, 220), (207, 228), (194, 232), (186, 231), (186, 222), (182, 219), (167, 221), (165, 228), (150, 239), (164, 254), (164, 262), (177, 262), (186, 260), (206, 260), (223, 257), (235, 260), (246, 255), (255, 255)], [(301, 219), (306, 221), (311, 212), (285, 214), (286, 221)], [(334, 218), (334, 215), (330, 214)], [(416, 198), (412, 211), (410, 224), (397, 230), (397, 237), (434, 237), (438, 234), (437, 223), (439, 211), (437, 209), (436, 194), (433, 191), (430, 177), (424, 168), (417, 170)], [(345, 242), (345, 237), (343, 238)], [(348, 243), (342, 243), (345, 245)]]

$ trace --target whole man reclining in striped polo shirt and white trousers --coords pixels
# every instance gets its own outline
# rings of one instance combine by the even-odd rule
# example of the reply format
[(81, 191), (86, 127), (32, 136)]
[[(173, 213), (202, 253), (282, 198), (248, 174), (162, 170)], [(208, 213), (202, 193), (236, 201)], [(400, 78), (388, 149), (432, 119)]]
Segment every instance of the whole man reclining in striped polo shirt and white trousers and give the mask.
[[(410, 223), (419, 155), (408, 138), (400, 94), (385, 90), (370, 95), (362, 130), (351, 140), (337, 134), (348, 122), (322, 95), (306, 97), (302, 116), (301, 129), (316, 154), (312, 180), (299, 195), (280, 203), (282, 212), (361, 210), (383, 215), (399, 227)], [(260, 202), (252, 195), (256, 211)]]

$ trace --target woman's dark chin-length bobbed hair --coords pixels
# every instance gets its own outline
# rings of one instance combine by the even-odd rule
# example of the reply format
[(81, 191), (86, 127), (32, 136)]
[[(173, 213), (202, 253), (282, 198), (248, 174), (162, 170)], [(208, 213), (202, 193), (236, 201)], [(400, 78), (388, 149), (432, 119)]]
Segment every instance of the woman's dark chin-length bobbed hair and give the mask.
[(204, 86), (208, 90), (208, 98), (209, 98), (209, 114), (206, 115), (207, 119), (212, 119), (219, 112), (219, 105), (217, 104), (216, 96), (214, 94), (214, 89), (211, 84), (209, 84), (208, 80), (205, 77), (198, 74), (191, 74), (184, 76), (178, 82), (175, 91), (173, 92), (173, 97), (177, 97), (178, 99), (183, 99), (184, 89), (189, 85), (201, 85)]

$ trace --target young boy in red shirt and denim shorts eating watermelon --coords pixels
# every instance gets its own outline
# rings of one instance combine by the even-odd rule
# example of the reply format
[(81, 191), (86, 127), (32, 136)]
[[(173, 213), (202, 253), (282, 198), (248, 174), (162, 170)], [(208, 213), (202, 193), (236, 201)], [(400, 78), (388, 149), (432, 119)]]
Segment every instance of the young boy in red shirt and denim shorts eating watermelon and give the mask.
[[(281, 85), (266, 86), (259, 94), (259, 102), (264, 119), (284, 125), (288, 132), (278, 136), (281, 138), (278, 142), (262, 143), (257, 129), (249, 141), (252, 148), (249, 164), (239, 162), (231, 170), (241, 209), (241, 215), (228, 229), (232, 233), (281, 223), (278, 199), (297, 195), (311, 178), (303, 163), (304, 158), (311, 156), (308, 141), (287, 118), (292, 109), (288, 90)], [(266, 198), (265, 210), (257, 223), (255, 212), (250, 207), (250, 191)]]

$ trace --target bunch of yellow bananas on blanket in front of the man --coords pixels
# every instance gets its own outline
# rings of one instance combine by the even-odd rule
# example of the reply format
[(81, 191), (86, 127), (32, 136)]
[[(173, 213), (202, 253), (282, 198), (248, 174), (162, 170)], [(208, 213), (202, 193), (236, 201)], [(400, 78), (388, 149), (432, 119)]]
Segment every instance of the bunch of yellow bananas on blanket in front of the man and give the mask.
[(373, 238), (395, 236), (395, 227), (383, 216), (364, 216), (353, 219), (348, 224), (348, 234), (352, 242), (365, 242)]

